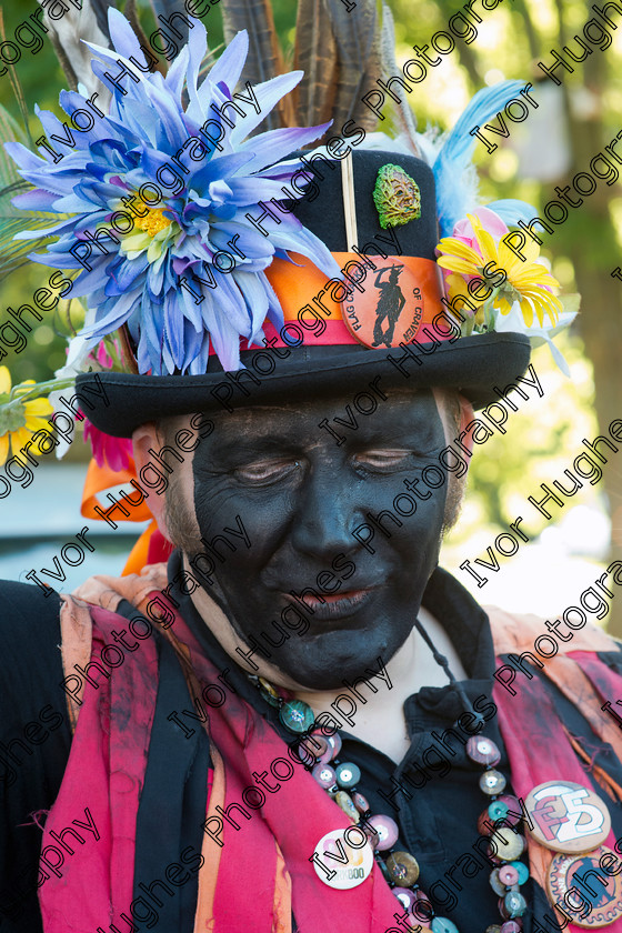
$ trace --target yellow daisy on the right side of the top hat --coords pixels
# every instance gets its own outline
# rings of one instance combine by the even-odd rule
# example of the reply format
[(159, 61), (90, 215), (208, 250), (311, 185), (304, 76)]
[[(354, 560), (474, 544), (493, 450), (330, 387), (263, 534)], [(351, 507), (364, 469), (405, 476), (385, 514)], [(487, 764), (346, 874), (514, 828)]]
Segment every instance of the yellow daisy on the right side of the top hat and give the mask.
[[(549, 289), (559, 288), (560, 283), (542, 262), (535, 261), (540, 255), (538, 243), (526, 243), (522, 248), (526, 259), (519, 259), (505, 243), (505, 237), (496, 242), (494, 237), (488, 230), (484, 230), (482, 221), (478, 217), (468, 214), (468, 218), (475, 233), (480, 252), (455, 237), (445, 237), (438, 245), (438, 250), (444, 253), (437, 260), (438, 264), (451, 272), (459, 273), (448, 277), (450, 299), (457, 294), (469, 295), (465, 288), (466, 280), (461, 277), (476, 275), (496, 292), (493, 292), (491, 299), (494, 308), (501, 314), (509, 314), (512, 304), (518, 301), (528, 328), (533, 323), (534, 312), (540, 327), (544, 323), (544, 314), (548, 314), (551, 322), (556, 324), (562, 303)], [(483, 271), (484, 268), (489, 270), (490, 274)], [(499, 285), (500, 270), (503, 271), (505, 281)], [(483, 285), (479, 291), (484, 291)], [(471, 300), (478, 301), (476, 298), (469, 297)], [(482, 299), (480, 303), (483, 305), (485, 299)], [(481, 311), (475, 315), (475, 322), (481, 323), (480, 319), (483, 319)]]

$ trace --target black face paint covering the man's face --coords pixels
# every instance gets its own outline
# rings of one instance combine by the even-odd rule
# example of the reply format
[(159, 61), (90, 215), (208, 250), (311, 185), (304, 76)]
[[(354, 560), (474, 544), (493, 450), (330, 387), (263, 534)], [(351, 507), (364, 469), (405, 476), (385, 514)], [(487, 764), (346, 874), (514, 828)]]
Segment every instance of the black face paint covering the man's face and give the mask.
[[(441, 472), (445, 439), (431, 390), (390, 397), (344, 431), (341, 447), (318, 427), (327, 409), (313, 400), (223, 412), (193, 460), (203, 541), (237, 529), (239, 515), (251, 542), (235, 539), (235, 551), (214, 542), (223, 560), (207, 592), (259, 646), (255, 659), (318, 690), (364, 676), (404, 643), (437, 565), (447, 496), (447, 483), (419, 482), (418, 495), (403, 482), (412, 489), (428, 465)], [(411, 515), (407, 498), (395, 509), (398, 495), (415, 502)], [(352, 534), (363, 523), (375, 530), (373, 554)]]

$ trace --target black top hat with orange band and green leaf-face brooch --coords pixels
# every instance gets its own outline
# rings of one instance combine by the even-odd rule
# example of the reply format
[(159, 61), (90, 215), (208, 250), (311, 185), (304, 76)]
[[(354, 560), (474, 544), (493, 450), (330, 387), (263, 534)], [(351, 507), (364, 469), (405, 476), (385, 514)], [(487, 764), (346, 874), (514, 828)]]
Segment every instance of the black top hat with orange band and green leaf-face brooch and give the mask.
[[(227, 373), (211, 355), (202, 375), (98, 373), (107, 403), (94, 373), (78, 375), (78, 398), (97, 428), (129, 438), (140, 424), (167, 415), (274, 404), (295, 394), (357, 393), (377, 375), (385, 388), (452, 387), (481, 408), (524, 373), (526, 335), (460, 335), (460, 309), (444, 299), (434, 261), (439, 233), (430, 167), (377, 150), (343, 158), (303, 154), (302, 200), (267, 205), (275, 217), (293, 211), (323, 240), (343, 282), (327, 281), (302, 257), (300, 265), (274, 260), (269, 278), (285, 324), (277, 331), (267, 322), (265, 345), (241, 349), (244, 370)], [(395, 264), (392, 257), (400, 258), (402, 272), (398, 284), (383, 289), (390, 277), (378, 272)]]

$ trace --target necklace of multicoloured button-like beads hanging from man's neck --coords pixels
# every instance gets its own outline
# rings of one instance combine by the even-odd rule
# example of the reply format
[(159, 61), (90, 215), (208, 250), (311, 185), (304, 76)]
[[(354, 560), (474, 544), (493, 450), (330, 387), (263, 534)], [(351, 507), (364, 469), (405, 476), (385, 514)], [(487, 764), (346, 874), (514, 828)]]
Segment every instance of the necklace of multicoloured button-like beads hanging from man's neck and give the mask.
[[(473, 709), (464, 689), (453, 676), (447, 658), (437, 651), (419, 620), (415, 621), (415, 626), (432, 650), (437, 663), (445, 671), (462, 705), (475, 716), (480, 726), (483, 725), (483, 718)], [(387, 814), (372, 814), (367, 799), (358, 790), (361, 779), (358, 765), (339, 760), (342, 749), (339, 732), (327, 735), (325, 726), (313, 730), (315, 714), (304, 701), (295, 700), (291, 694), (281, 695), (264, 678), (251, 674), (248, 676), (257, 685), (262, 698), (278, 709), (281, 724), (299, 738), (297, 751), (307, 770), (350, 817), (353, 825), (359, 826), (368, 836), (383, 877), (404, 909), (400, 920), (405, 921), (408, 917), (418, 929), (424, 924), (423, 929), (431, 930), (432, 933), (459, 933), (453, 921), (435, 913), (430, 899), (419, 886), (420, 869), (417, 859), (410, 852), (394, 849), (399, 837), (395, 821)], [(526, 910), (526, 902), (520, 889), (530, 874), (528, 866), (520, 861), (526, 849), (525, 839), (519, 833), (522, 823), (520, 802), (515, 796), (503, 793), (506, 780), (495, 769), (501, 753), (491, 739), (472, 735), (465, 750), (471, 761), (483, 765), (479, 784), (489, 797), (489, 804), (478, 820), (478, 831), (481, 835), (490, 837), (489, 859), (494, 865), (490, 874), (490, 884), (499, 896), (500, 920), (486, 926), (485, 933), (520, 933), (521, 917)], [(505, 833), (501, 826), (505, 827)]]

